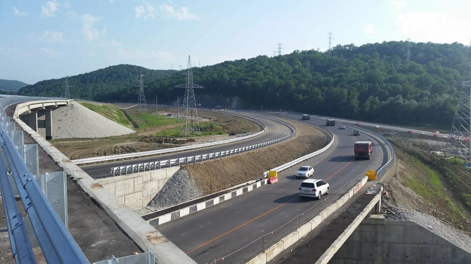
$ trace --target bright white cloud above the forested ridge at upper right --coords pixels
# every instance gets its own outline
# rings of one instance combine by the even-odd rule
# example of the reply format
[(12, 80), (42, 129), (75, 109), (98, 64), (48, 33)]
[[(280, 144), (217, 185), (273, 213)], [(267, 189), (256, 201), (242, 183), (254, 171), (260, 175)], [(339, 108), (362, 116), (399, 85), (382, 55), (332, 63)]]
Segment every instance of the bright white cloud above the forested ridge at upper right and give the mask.
[(406, 39), (413, 36), (416, 42), (469, 43), (469, 36), (457, 25), (471, 24), (470, 16), (449, 16), (439, 11), (408, 11), (396, 17), (396, 33)]

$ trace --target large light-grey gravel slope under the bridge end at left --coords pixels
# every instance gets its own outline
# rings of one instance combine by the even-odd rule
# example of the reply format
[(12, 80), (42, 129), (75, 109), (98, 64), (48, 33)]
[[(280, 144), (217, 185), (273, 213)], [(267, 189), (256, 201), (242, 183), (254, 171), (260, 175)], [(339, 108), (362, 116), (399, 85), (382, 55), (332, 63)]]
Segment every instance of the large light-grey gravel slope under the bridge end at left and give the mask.
[[(45, 116), (38, 116), (44, 120)], [(135, 131), (71, 101), (69, 106), (52, 110), (52, 138), (104, 138), (121, 136)], [(46, 130), (39, 128), (38, 133), (44, 137)]]

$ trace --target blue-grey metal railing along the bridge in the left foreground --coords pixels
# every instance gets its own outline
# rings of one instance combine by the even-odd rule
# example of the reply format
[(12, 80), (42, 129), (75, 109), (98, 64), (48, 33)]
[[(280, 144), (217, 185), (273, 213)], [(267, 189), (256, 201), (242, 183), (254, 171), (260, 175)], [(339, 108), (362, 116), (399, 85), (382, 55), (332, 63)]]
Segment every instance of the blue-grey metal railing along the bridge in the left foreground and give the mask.
[[(10, 138), (10, 134), (14, 134), (15, 123), (3, 113), (3, 109), (14, 103), (48, 99), (51, 98), (16, 96), (0, 99), (0, 185), (12, 254), (16, 263), (36, 263), (25, 218), (22, 219), (15, 202), (14, 194), (17, 191), (47, 263), (85, 264), (89, 263), (87, 258), (42, 192), (41, 186), (24, 163), (24, 157)], [(8, 177), (13, 178), (13, 185), (9, 183)]]

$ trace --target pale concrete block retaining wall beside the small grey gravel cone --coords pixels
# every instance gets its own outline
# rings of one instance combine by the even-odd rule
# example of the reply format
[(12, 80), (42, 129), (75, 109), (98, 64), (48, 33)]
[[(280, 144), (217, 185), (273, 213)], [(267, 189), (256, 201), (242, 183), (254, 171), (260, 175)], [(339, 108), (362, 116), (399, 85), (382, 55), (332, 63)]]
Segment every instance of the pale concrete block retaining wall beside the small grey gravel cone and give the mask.
[(97, 179), (97, 182), (114, 194), (132, 210), (145, 207), (162, 189), (165, 183), (180, 167), (171, 167), (155, 171), (145, 171)]

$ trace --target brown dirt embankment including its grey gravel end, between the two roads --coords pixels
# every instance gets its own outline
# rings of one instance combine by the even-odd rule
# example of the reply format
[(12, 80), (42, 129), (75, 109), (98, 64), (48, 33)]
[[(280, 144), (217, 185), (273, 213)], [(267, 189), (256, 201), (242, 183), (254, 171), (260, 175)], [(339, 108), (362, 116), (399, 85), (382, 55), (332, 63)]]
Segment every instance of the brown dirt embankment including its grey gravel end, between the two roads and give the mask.
[[(180, 175), (182, 179), (167, 181), (162, 188), (165, 192), (159, 193), (149, 206), (137, 213), (145, 215), (260, 178), (264, 171), (312, 153), (327, 144), (327, 137), (323, 132), (304, 124), (292, 124), (296, 127), (296, 136), (291, 140), (217, 161), (184, 166), (179, 171), (183, 173)], [(186, 191), (182, 192), (182, 185), (191, 187), (185, 187)]]

